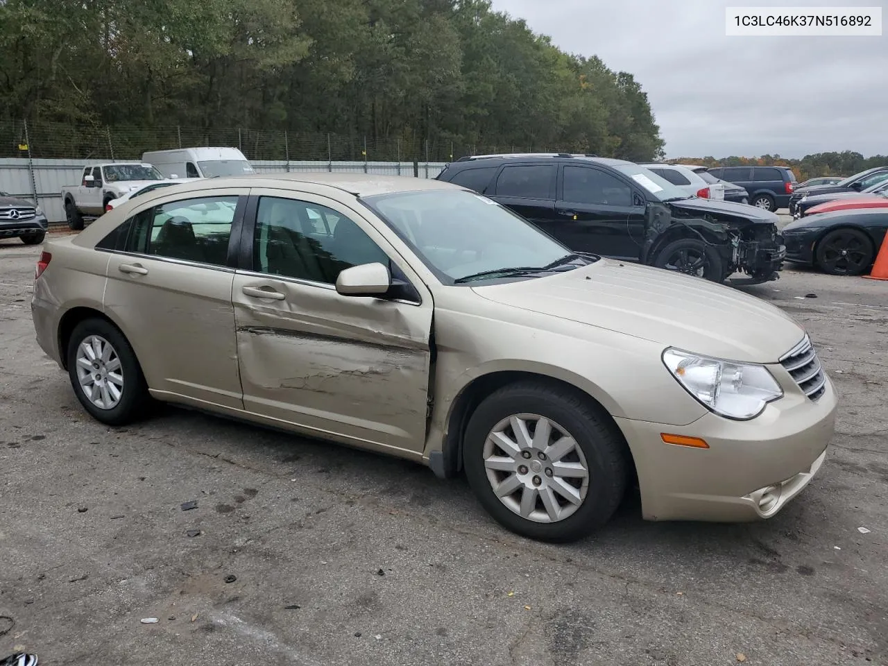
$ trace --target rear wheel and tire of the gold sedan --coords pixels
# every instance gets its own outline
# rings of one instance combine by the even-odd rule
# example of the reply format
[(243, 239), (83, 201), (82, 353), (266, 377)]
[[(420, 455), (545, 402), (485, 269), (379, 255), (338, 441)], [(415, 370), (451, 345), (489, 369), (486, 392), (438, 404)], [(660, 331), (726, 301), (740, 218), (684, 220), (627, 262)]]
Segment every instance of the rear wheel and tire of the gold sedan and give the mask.
[(104, 424), (131, 423), (150, 403), (136, 354), (108, 321), (88, 319), (75, 326), (67, 345), (67, 372), (83, 408)]

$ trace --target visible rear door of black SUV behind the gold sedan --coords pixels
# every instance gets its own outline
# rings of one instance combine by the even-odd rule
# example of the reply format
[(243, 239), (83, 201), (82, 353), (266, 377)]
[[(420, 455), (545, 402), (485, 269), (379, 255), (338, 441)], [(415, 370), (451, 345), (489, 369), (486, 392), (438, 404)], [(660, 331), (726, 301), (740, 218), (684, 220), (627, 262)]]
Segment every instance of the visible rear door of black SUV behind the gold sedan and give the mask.
[(555, 221), (556, 163), (507, 164), (488, 196), (548, 231)]

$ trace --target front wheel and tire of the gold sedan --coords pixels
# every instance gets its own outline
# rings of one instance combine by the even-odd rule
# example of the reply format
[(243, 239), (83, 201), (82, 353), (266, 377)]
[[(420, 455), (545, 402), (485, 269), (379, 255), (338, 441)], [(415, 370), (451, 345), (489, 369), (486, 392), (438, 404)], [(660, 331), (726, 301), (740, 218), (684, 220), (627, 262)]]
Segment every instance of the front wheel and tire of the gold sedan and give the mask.
[(582, 395), (543, 382), (492, 393), (466, 428), (472, 491), (503, 527), (551, 542), (604, 525), (626, 487), (627, 450), (607, 415)]

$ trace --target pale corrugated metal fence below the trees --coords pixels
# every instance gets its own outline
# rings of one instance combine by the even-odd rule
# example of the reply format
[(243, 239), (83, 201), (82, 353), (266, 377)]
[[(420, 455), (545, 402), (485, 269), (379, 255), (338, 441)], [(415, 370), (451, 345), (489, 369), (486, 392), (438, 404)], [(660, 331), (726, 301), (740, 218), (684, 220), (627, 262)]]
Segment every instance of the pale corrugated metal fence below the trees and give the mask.
[[(0, 192), (8, 192), (22, 199), (36, 201), (44, 209), (50, 222), (64, 222), (65, 209), (61, 200), (63, 186), (80, 184), (83, 167), (112, 160), (33, 160), (10, 157), (0, 159)], [(332, 171), (334, 173), (368, 173), (379, 176), (435, 178), (445, 163), (412, 162), (251, 162), (257, 173), (309, 173)], [(34, 183), (31, 181), (31, 170)], [(35, 189), (36, 186), (36, 189)]]

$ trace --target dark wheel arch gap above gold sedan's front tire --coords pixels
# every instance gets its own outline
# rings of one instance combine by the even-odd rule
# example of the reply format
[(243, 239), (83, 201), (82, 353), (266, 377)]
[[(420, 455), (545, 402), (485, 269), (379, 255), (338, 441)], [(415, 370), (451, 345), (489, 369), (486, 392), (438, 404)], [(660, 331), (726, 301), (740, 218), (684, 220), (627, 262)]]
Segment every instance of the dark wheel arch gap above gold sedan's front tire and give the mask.
[(626, 462), (630, 470), (630, 483), (634, 484), (638, 480), (638, 472), (636, 472), (635, 459), (632, 456), (629, 442), (623, 435), (621, 428), (614, 420), (611, 412), (590, 392), (583, 390), (579, 386), (560, 377), (552, 377), (544, 375), (540, 372), (527, 370), (494, 370), (480, 377), (475, 377), (463, 389), (457, 393), (456, 398), (451, 402), (448, 416), (446, 418), (446, 431), (441, 441), (441, 450), (433, 451), (429, 456), (429, 465), (432, 471), (441, 478), (448, 479), (456, 477), (463, 471), (463, 443), (466, 426), (472, 417), (475, 409), (478, 408), (481, 401), (496, 390), (503, 386), (516, 384), (522, 381), (536, 381), (541, 384), (558, 386), (574, 392), (584, 402), (594, 408), (603, 421), (611, 428), (614, 435), (622, 442), (624, 452), (626, 454)]

